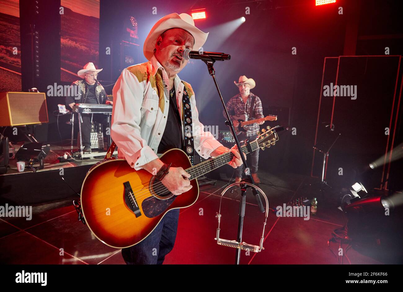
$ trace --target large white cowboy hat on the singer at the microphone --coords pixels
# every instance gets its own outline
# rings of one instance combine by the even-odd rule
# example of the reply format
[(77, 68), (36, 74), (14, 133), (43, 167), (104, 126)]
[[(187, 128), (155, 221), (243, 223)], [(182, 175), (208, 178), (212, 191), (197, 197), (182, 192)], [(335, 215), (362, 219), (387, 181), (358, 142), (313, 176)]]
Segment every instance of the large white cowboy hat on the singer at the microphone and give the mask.
[(173, 28), (180, 28), (188, 31), (195, 39), (193, 48), (197, 50), (204, 45), (208, 36), (208, 33), (204, 33), (203, 31), (195, 27), (195, 22), (193, 21), (192, 16), (190, 16), (189, 14), (168, 14), (157, 21), (157, 23), (152, 27), (150, 33), (147, 35), (147, 38), (144, 41), (143, 52), (147, 60), (150, 60), (154, 55), (155, 43), (158, 36), (167, 29)]

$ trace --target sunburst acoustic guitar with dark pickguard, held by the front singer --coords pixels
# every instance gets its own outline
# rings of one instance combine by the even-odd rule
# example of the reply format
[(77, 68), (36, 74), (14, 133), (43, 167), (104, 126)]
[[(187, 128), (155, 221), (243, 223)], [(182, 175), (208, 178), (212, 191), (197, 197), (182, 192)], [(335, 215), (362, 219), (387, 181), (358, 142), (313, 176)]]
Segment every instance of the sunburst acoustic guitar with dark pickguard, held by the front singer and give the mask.
[[(249, 143), (250, 148), (245, 143), (241, 150), (247, 154), (249, 149), (274, 145), (280, 130), (279, 126), (268, 127)], [(181, 195), (173, 195), (154, 175), (144, 169), (135, 171), (124, 159), (106, 158), (91, 167), (81, 188), (85, 222), (106, 245), (131, 247), (145, 239), (169, 210), (193, 205), (199, 197), (197, 177), (226, 165), (233, 156), (226, 152), (192, 167), (182, 150), (165, 152), (160, 157), (162, 162), (172, 162), (171, 167), (183, 167), (191, 175), (193, 187)]]

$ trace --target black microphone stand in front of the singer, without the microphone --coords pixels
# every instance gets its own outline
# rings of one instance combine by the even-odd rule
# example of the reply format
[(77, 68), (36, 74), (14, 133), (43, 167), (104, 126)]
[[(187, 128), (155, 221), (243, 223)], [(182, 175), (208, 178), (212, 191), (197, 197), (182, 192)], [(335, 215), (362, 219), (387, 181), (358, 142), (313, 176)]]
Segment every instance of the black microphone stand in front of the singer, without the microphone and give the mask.
[[(215, 72), (215, 70), (213, 68), (213, 64), (214, 64), (215, 60), (210, 58), (209, 56), (206, 56), (206, 57), (202, 58), (201, 60), (203, 60), (203, 62), (206, 63), (207, 68), (208, 68), (208, 73), (210, 74), (210, 76), (212, 76), (212, 78), (214, 80), (214, 84), (216, 85), (217, 92), (218, 92), (218, 95), (220, 96), (222, 107), (224, 108), (225, 115), (226, 115), (226, 118), (227, 118), (227, 121), (225, 122), (225, 124), (230, 127), (232, 136), (234, 137), (235, 143), (237, 144), (237, 147), (238, 147), (238, 150), (239, 150), (239, 153), (241, 154), (241, 149), (242, 149), (241, 145), (239, 144), (237, 134), (235, 133), (234, 125), (233, 125), (233, 123), (231, 121), (231, 118), (229, 116), (229, 113), (228, 113), (228, 111), (226, 109), (224, 99), (222, 99), (221, 91), (220, 91), (220, 88), (218, 87), (218, 83), (217, 83), (217, 80), (216, 80), (216, 76), (215, 76), (216, 72)], [(245, 165), (245, 173), (249, 177), (248, 180), (249, 180), (250, 183), (252, 183), (254, 185), (255, 182), (253, 181), (251, 172), (249, 171), (249, 167), (247, 166), (246, 159), (245, 159), (245, 157), (243, 157), (243, 154), (241, 154), (241, 159), (242, 159), (243, 165)], [(238, 235), (237, 235), (237, 241), (239, 243), (242, 242), (243, 217), (245, 216), (246, 190), (247, 190), (248, 187), (251, 187), (251, 186), (249, 186), (249, 185), (247, 185), (245, 183), (241, 183), (241, 199), (239, 200), (239, 221), (238, 221)], [(256, 202), (258, 204), (260, 212), (263, 213), (264, 208), (263, 208), (262, 200), (260, 199), (260, 196), (258, 194), (258, 191), (254, 187), (251, 187), (251, 189), (252, 189), (253, 195), (256, 198)], [(236, 265), (239, 265), (240, 256), (241, 256), (241, 249), (237, 249), (237, 253), (235, 255), (235, 264)]]

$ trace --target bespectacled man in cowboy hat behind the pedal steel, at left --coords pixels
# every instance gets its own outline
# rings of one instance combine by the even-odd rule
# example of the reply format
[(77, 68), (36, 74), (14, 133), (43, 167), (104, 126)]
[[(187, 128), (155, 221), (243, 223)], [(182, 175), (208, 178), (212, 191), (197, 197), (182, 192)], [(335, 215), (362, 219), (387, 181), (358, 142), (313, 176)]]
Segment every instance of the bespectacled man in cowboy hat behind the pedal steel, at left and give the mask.
[[(72, 83), (73, 86), (77, 86), (80, 99), (75, 100), (73, 96), (66, 97), (66, 105), (73, 108), (75, 103), (85, 103), (85, 104), (106, 104), (112, 105), (113, 102), (108, 99), (104, 87), (96, 80), (98, 73), (102, 69), (96, 69), (94, 64), (89, 62), (83, 69), (77, 72), (77, 75), (81, 77), (81, 80), (77, 80)], [(83, 140), (83, 151), (88, 154), (91, 153), (91, 115), (83, 113), (81, 115), (83, 122), (81, 123), (81, 136)], [(104, 114), (93, 114), (92, 121), (97, 121), (103, 124), (104, 134), (106, 127), (109, 127), (107, 122), (107, 115)]]

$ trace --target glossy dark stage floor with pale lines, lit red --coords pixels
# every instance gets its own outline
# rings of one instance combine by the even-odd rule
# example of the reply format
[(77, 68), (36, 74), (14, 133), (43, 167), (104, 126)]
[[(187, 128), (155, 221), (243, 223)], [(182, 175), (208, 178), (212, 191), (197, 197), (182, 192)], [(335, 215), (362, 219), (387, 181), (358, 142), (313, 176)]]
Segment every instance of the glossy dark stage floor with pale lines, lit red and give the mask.
[[(269, 178), (270, 179), (265, 179)], [(283, 205), (297, 197), (310, 198), (307, 184), (312, 178), (301, 175), (260, 173), (260, 187), (269, 199), (269, 207)], [(273, 186), (274, 185), (274, 186)], [(226, 182), (200, 187), (199, 199), (179, 216), (174, 249), (164, 264), (233, 264), (236, 249), (217, 245), (214, 240), (215, 218), (220, 193)], [(235, 240), (237, 235), (239, 190), (227, 193), (222, 201), (220, 238)], [(72, 205), (76, 197), (49, 201), (33, 206), (32, 220), (0, 218), (0, 263), (3, 264), (124, 264), (120, 249), (104, 245), (87, 226), (77, 221)], [(264, 214), (255, 199), (247, 195), (243, 241), (259, 245)], [(242, 264), (337, 264), (339, 244), (328, 246), (331, 232), (343, 226), (343, 214), (318, 198), (318, 214), (303, 218), (277, 217), (269, 212), (264, 231), (264, 250), (260, 253), (241, 251)], [(345, 247), (346, 248), (346, 247)], [(64, 255), (62, 254), (62, 251)], [(350, 248), (343, 264), (373, 264), (382, 261), (362, 255)]]

